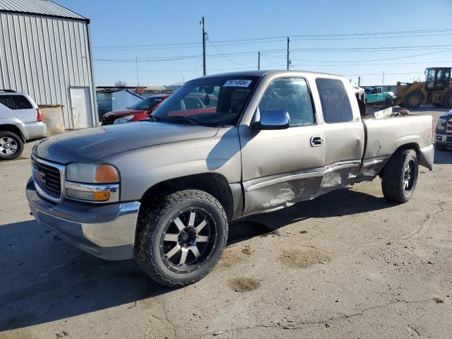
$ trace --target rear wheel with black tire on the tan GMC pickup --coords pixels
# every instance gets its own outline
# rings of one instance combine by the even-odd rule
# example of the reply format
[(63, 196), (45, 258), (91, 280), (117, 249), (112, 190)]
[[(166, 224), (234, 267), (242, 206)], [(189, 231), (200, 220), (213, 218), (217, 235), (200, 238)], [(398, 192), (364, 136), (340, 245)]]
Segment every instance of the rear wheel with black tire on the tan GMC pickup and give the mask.
[(403, 150), (394, 154), (383, 167), (381, 175), (381, 188), (386, 200), (396, 203), (409, 201), (416, 188), (418, 172), (415, 150)]

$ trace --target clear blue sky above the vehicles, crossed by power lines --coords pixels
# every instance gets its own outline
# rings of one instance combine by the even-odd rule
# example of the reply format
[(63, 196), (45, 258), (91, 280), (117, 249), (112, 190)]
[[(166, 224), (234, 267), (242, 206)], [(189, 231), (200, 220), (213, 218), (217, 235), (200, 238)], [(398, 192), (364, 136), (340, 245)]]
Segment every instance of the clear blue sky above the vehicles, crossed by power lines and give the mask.
[[(383, 71), (390, 85), (452, 66), (451, 0), (55, 1), (91, 20), (96, 85), (136, 85), (136, 58), (141, 85), (202, 76), (202, 16), (209, 74), (256, 69), (258, 51), (261, 69), (285, 69), (287, 35), (292, 69), (361, 76), (362, 85), (381, 85)], [(391, 34), (350, 35), (375, 32)]]

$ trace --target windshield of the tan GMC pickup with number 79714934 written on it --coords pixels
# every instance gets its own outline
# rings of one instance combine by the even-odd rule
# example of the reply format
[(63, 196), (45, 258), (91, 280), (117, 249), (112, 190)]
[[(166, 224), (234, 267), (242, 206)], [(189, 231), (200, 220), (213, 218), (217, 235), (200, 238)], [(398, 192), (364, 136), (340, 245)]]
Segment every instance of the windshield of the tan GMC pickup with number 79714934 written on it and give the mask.
[(257, 81), (257, 76), (189, 81), (157, 107), (151, 117), (179, 124), (234, 125)]

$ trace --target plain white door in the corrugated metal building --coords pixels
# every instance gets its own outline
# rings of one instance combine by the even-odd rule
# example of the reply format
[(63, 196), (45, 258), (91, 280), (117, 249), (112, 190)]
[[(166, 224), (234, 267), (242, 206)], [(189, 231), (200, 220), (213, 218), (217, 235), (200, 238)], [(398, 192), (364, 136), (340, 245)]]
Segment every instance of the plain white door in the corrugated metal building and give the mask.
[(93, 110), (91, 109), (90, 88), (70, 88), (72, 121), (74, 129), (85, 129), (93, 126)]

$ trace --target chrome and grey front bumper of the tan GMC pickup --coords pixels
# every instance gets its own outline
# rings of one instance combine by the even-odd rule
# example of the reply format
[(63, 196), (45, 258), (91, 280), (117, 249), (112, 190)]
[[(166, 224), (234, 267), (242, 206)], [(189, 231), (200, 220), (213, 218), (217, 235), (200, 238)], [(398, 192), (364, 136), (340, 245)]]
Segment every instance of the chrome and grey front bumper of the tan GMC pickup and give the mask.
[(37, 222), (67, 242), (106, 260), (133, 258), (138, 201), (94, 206), (76, 201), (55, 204), (37, 194), (31, 178), (26, 194)]

